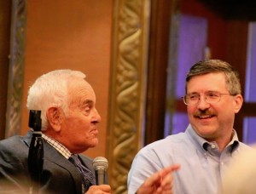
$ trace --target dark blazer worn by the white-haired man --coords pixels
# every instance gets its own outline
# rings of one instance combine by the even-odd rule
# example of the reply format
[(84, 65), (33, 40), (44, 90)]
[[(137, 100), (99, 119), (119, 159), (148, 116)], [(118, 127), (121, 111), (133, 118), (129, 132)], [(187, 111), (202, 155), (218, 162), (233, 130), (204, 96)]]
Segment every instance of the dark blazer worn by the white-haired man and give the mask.
[[(0, 141), (0, 193), (28, 193), (31, 179), (27, 157), (32, 132)], [(92, 159), (79, 155), (93, 173)], [(82, 180), (77, 168), (44, 140), (44, 168), (40, 193), (82, 193)]]

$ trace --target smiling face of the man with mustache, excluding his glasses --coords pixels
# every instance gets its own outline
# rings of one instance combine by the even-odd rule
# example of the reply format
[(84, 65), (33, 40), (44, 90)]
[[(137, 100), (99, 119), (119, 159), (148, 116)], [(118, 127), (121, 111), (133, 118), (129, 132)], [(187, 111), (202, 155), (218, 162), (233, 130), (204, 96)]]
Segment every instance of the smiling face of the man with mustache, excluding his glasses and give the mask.
[[(207, 103), (204, 94), (215, 91), (221, 94), (217, 103)], [(187, 85), (187, 94), (200, 94), (201, 100), (193, 106), (187, 106), (189, 123), (195, 132), (209, 141), (230, 140), (235, 119), (235, 113), (241, 108), (241, 95), (226, 95), (224, 73), (208, 73), (192, 77)]]

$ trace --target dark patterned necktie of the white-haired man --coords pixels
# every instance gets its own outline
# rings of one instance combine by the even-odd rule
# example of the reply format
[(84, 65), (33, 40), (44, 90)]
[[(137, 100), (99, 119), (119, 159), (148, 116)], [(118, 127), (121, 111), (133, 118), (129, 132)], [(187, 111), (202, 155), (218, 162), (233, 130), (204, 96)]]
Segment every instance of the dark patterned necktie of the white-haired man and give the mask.
[(83, 193), (84, 191), (87, 191), (89, 189), (90, 185), (96, 185), (94, 174), (90, 171), (90, 169), (86, 168), (80, 162), (78, 156), (72, 154), (68, 160), (71, 163), (73, 163), (76, 168), (78, 168), (79, 173), (81, 174), (82, 183), (83, 183)]

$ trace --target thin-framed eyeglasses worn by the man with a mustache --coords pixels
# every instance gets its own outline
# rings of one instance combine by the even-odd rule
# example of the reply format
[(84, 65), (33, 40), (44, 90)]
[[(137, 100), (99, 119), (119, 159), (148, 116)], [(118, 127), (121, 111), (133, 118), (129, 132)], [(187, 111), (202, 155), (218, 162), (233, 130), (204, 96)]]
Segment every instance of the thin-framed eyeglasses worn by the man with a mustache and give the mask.
[[(204, 100), (206, 100), (209, 104), (218, 103), (221, 99), (222, 95), (236, 95), (236, 94), (221, 94), (219, 92), (206, 92), (204, 94)], [(183, 96), (183, 102), (185, 105), (194, 106), (196, 105), (199, 100), (201, 100), (201, 94), (193, 93), (193, 94), (186, 94)]]

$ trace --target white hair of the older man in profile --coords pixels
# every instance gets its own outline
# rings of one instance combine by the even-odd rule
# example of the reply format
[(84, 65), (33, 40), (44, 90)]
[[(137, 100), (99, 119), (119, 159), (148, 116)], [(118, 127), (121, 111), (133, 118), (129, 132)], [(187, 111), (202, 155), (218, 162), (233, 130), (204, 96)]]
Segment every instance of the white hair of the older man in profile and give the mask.
[(42, 130), (48, 127), (46, 111), (50, 107), (61, 107), (67, 113), (67, 82), (71, 77), (84, 79), (86, 76), (81, 71), (50, 71), (38, 77), (29, 88), (26, 107), (28, 110), (41, 111)]

